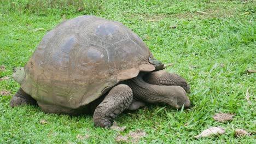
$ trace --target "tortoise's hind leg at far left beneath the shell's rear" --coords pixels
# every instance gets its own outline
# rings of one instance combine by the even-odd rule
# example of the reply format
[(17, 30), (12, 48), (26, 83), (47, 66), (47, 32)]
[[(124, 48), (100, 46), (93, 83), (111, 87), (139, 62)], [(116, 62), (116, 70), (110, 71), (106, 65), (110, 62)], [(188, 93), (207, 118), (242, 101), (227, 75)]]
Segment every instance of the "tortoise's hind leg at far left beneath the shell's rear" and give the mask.
[(34, 100), (30, 95), (25, 93), (22, 88), (13, 96), (10, 101), (10, 106), (15, 107), (19, 105), (36, 105), (37, 101)]

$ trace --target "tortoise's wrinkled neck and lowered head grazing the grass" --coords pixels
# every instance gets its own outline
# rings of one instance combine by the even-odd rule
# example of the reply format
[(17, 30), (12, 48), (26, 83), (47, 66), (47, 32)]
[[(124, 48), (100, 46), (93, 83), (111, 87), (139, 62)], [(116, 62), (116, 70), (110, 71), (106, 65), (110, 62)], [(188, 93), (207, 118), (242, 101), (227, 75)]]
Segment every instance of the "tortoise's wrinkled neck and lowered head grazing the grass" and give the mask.
[(190, 107), (189, 98), (182, 87), (151, 85), (142, 79), (143, 76), (144, 73), (140, 73), (137, 77), (124, 81), (132, 88), (133, 99), (147, 103), (167, 103), (177, 109), (183, 104), (184, 107)]

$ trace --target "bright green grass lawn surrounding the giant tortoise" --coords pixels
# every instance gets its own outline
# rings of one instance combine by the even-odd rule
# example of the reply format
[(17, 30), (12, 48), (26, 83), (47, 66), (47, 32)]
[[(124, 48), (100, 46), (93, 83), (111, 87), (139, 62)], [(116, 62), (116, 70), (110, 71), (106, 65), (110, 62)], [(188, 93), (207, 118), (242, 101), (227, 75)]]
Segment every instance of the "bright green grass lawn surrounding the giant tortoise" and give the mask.
[[(11, 109), (9, 101), (19, 85), (0, 81), (0, 143), (116, 143), (115, 137), (142, 129), (138, 143), (255, 143), (255, 1), (18, 1), (0, 2), (0, 77), (23, 67), (43, 35), (63, 19), (92, 14), (117, 20), (136, 32), (154, 56), (173, 63), (167, 71), (185, 77), (194, 107), (176, 110), (148, 105), (125, 112), (115, 121), (123, 132), (94, 127), (91, 116), (43, 113), (39, 107)], [(53, 4), (49, 4), (52, 2)], [(80, 9), (79, 9), (80, 8)], [(201, 13), (203, 11), (204, 13)], [(177, 25), (177, 28), (170, 26)], [(42, 28), (46, 31), (35, 31)], [(248, 103), (246, 95), (251, 96)], [(163, 108), (164, 107), (164, 108)], [(235, 114), (216, 122), (218, 112)], [(41, 124), (44, 119), (48, 123)], [(210, 127), (224, 135), (194, 139)], [(243, 128), (251, 137), (236, 138)], [(79, 139), (77, 135), (89, 135)]]

